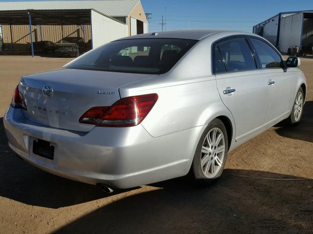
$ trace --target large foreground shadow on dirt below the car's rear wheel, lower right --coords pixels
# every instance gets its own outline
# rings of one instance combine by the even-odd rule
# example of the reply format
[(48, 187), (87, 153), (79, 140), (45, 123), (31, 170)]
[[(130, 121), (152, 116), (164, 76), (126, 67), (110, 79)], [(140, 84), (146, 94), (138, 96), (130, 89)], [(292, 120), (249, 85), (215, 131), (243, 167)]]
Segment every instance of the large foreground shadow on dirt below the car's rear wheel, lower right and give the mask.
[(208, 187), (163, 181), (151, 185), (158, 190), (104, 205), (54, 234), (312, 233), (312, 180), (264, 177), (301, 179), (226, 169)]

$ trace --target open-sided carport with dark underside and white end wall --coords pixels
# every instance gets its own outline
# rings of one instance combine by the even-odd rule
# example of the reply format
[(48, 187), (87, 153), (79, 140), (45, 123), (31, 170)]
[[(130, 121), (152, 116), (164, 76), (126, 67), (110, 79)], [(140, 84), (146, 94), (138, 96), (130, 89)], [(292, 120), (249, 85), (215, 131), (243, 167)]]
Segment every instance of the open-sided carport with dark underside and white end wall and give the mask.
[[(86, 33), (84, 25), (90, 25), (91, 48), (107, 43), (113, 39), (126, 36), (126, 24), (106, 16), (94, 9), (62, 9), (62, 10), (14, 10), (0, 11), (0, 25), (29, 25), (31, 54), (34, 56), (32, 25), (39, 25), (40, 38), (43, 39), (42, 25), (79, 25)], [(13, 43), (13, 41), (12, 41)]]

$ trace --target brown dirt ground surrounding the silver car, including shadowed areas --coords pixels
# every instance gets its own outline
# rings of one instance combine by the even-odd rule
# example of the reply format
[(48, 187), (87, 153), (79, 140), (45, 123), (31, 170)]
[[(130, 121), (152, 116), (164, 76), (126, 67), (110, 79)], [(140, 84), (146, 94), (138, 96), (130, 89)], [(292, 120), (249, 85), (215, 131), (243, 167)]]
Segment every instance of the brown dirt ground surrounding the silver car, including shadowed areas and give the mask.
[(110, 195), (36, 169), (7, 145), (2, 117), (20, 77), (69, 60), (0, 56), (0, 234), (313, 233), (313, 59), (301, 60), (301, 123), (229, 153), (216, 183), (177, 178)]

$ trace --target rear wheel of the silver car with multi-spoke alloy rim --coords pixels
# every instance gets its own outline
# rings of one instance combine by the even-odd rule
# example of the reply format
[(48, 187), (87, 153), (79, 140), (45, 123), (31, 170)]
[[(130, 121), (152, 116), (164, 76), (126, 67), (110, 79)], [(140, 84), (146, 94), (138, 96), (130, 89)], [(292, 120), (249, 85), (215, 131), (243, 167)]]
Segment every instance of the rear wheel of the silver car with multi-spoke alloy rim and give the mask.
[(200, 184), (210, 184), (222, 175), (228, 151), (227, 131), (220, 119), (213, 119), (199, 140), (190, 174)]

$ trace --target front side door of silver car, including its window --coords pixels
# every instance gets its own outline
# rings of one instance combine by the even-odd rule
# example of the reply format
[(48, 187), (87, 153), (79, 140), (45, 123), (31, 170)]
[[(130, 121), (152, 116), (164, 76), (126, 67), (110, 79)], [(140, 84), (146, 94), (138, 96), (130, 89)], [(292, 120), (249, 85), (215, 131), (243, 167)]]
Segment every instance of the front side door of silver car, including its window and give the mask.
[(296, 79), (284, 68), (281, 55), (267, 41), (249, 37), (264, 76), (267, 78), (268, 108), (265, 123), (278, 122), (291, 110), (296, 92)]

